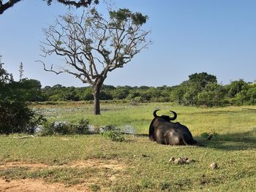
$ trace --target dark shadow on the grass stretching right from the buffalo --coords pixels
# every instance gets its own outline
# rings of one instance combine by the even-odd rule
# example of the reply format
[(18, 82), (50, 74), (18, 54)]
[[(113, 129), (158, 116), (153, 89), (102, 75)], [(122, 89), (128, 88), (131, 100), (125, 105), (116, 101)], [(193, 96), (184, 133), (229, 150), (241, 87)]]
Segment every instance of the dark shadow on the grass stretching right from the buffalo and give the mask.
[(256, 149), (256, 128), (252, 131), (235, 134), (217, 134), (211, 140), (195, 137), (198, 146), (219, 150), (249, 150)]

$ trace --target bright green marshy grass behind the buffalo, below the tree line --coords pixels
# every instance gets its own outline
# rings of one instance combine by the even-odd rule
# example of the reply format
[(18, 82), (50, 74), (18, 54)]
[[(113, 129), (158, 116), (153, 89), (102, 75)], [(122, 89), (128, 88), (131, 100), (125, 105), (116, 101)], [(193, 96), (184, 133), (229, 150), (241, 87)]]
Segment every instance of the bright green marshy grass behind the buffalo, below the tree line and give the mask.
[[(183, 107), (170, 103), (148, 103), (132, 106), (129, 103), (101, 105), (102, 115), (93, 115), (93, 104), (67, 103), (63, 105), (39, 106), (40, 111), (50, 120), (69, 120), (78, 122), (81, 118), (89, 119), (91, 125), (115, 125), (124, 128), (129, 126), (137, 134), (147, 134), (153, 118), (153, 111), (161, 109), (159, 114), (170, 114), (169, 110), (178, 113), (177, 121), (189, 127), (193, 135), (216, 131), (218, 134), (233, 134), (251, 131), (255, 127), (256, 115), (246, 107), (198, 108)], [(35, 107), (38, 109), (38, 107)], [(252, 108), (252, 107), (251, 107)]]

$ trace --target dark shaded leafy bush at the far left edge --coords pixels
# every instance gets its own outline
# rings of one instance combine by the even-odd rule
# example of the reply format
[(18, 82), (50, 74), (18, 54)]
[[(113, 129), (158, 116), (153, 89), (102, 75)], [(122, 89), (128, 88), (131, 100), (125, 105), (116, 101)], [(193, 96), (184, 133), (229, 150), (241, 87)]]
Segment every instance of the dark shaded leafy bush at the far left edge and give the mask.
[(14, 82), (3, 68), (0, 57), (0, 134), (32, 131), (35, 114), (29, 109), (20, 82)]

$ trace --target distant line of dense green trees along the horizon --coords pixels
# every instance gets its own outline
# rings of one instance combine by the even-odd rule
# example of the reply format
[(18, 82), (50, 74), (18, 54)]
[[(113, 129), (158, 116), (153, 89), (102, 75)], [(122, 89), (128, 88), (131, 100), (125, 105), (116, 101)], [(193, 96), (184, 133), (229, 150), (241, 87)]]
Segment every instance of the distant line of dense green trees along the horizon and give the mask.
[[(14, 83), (14, 82), (13, 82)], [(16, 82), (17, 83), (17, 82)], [(63, 85), (41, 88), (38, 80), (22, 79), (13, 84), (26, 101), (93, 101), (94, 88), (65, 87)], [(189, 75), (188, 80), (175, 86), (113, 86), (102, 85), (100, 100), (140, 102), (174, 102), (184, 106), (225, 106), (256, 104), (256, 83), (235, 80), (222, 85), (217, 77), (206, 72)]]

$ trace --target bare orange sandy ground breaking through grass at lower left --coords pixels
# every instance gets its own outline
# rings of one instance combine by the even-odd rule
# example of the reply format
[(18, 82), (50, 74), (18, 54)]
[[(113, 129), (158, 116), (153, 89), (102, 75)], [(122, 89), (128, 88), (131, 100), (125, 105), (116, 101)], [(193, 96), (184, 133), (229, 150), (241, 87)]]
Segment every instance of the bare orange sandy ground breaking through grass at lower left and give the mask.
[[(102, 160), (87, 160), (87, 161), (73, 161), (70, 164), (64, 164), (61, 166), (50, 166), (47, 164), (29, 164), (24, 162), (8, 162), (6, 164), (0, 165), (1, 169), (14, 169), (15, 167), (27, 167), (31, 171), (38, 169), (51, 169), (56, 167), (67, 167), (67, 168), (82, 168), (82, 167), (97, 167), (97, 168), (108, 168), (108, 169), (125, 169), (125, 166), (120, 164), (118, 161), (102, 161)], [(115, 180), (115, 176), (108, 178), (110, 180)], [(10, 180), (0, 178), (0, 192), (71, 192), (71, 191), (90, 191), (88, 183), (82, 183), (79, 185), (73, 185), (67, 187), (62, 183), (45, 183), (43, 180), (34, 179), (24, 179), (24, 180)]]

